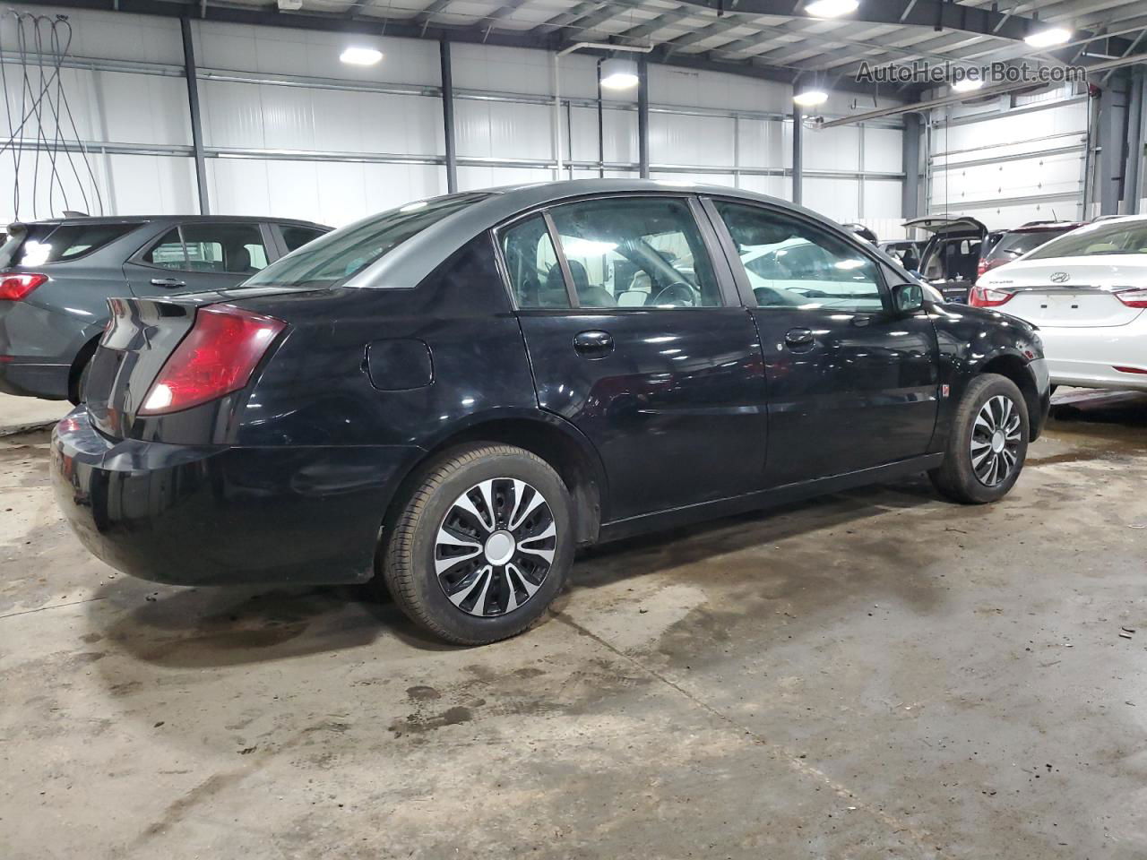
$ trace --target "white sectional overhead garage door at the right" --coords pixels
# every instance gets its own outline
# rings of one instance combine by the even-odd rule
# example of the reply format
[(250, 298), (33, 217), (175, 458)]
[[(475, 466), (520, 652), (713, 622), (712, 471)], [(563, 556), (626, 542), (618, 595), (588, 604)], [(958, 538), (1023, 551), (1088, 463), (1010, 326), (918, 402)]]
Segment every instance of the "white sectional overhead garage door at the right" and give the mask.
[(1086, 94), (1070, 86), (936, 109), (928, 212), (970, 214), (993, 229), (1084, 218), (1087, 111)]

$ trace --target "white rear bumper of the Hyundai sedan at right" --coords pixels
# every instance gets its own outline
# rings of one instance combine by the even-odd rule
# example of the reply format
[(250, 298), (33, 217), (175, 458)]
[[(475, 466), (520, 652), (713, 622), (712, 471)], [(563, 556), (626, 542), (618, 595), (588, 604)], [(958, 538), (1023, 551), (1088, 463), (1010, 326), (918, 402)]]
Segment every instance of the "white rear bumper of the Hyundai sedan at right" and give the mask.
[(1125, 326), (1040, 326), (1047, 368), (1055, 385), (1147, 390), (1147, 314)]

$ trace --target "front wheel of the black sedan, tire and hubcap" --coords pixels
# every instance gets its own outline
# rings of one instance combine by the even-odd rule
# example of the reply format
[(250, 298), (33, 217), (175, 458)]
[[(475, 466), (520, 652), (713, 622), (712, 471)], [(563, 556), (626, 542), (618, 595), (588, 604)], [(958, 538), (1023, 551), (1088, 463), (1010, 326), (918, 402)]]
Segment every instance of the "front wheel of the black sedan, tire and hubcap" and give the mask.
[[(997, 452), (991, 441), (993, 433), (989, 435), (986, 428), (997, 414), (1004, 414), (1001, 398), (1011, 405), (1020, 423), (1015, 431), (1004, 433), (1005, 447)], [(989, 414), (983, 420), (986, 423), (977, 425), (989, 402)], [(1002, 423), (1011, 427), (1012, 419), (1008, 417)], [(1000, 430), (1004, 432), (1002, 424)], [(1019, 439), (1009, 443), (1008, 439), (1016, 431)], [(1028, 455), (1028, 407), (1015, 383), (997, 374), (977, 376), (968, 384), (955, 409), (944, 462), (928, 472), (933, 486), (949, 499), (965, 505), (986, 505), (1002, 499), (1015, 486), (1023, 470)], [(978, 446), (975, 455), (974, 444)], [(978, 459), (981, 455), (983, 459)], [(975, 462), (974, 458), (977, 459)], [(1006, 472), (992, 472), (991, 461), (1000, 470), (1006, 467)], [(986, 478), (983, 477), (985, 472)]]

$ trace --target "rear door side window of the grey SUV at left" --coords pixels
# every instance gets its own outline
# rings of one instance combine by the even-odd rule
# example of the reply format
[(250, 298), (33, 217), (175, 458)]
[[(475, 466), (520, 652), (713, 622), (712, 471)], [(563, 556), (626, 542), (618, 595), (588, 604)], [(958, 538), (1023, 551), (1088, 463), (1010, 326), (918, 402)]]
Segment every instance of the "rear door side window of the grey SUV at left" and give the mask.
[(253, 274), (267, 265), (256, 224), (185, 224), (167, 230), (143, 261), (181, 272)]

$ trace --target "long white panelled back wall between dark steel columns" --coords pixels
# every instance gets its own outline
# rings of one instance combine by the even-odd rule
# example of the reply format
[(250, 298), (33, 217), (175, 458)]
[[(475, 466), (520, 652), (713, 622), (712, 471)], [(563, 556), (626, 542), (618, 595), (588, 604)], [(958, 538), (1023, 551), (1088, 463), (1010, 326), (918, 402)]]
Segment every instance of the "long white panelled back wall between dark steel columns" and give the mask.
[[(179, 22), (60, 11), (73, 26), (70, 53), (84, 67), (62, 72), (76, 133), (63, 125), (84, 141), (92, 175), (79, 151), (71, 163), (56, 158), (55, 180), (42, 153), (0, 153), (0, 219), (11, 219), (17, 203), (25, 219), (58, 213), (61, 187), (69, 208), (89, 212), (99, 209), (96, 196), (108, 213), (197, 211)], [(193, 37), (212, 211), (341, 225), (446, 191), (436, 41), (200, 21)], [(383, 61), (365, 69), (341, 63), (350, 42), (377, 47)], [(10, 21), (0, 21), (0, 47), (15, 103), (23, 81)], [(460, 188), (552, 179), (552, 55), (467, 44), (452, 53)], [(563, 174), (595, 177), (595, 57), (562, 58), (561, 93)], [(637, 175), (635, 99), (635, 91), (606, 96), (607, 175)], [(790, 99), (783, 84), (650, 64), (654, 177), (789, 197)], [(848, 112), (850, 102), (834, 96), (826, 116)], [(41, 125), (50, 141), (47, 114)], [(805, 205), (899, 235), (900, 135), (892, 124), (806, 128)], [(28, 147), (34, 136), (25, 134)]]

